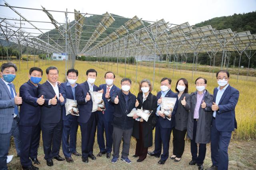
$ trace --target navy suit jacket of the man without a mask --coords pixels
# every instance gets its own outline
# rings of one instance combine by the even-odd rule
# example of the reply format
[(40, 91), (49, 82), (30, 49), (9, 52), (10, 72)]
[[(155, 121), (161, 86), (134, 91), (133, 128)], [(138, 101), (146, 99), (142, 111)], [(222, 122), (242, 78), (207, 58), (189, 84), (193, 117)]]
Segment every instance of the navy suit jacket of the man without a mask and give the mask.
[[(59, 92), (60, 92), (60, 87)], [(46, 80), (45, 83), (38, 86), (38, 97), (44, 96), (44, 104), (42, 105), (42, 111), (41, 111), (41, 122), (44, 124), (48, 123), (58, 123), (61, 120), (62, 116), (62, 105), (63, 103), (60, 103), (60, 101), (57, 99), (56, 105), (48, 105), (49, 100), (54, 98), (56, 95), (52, 85)]]

